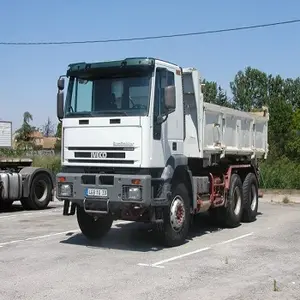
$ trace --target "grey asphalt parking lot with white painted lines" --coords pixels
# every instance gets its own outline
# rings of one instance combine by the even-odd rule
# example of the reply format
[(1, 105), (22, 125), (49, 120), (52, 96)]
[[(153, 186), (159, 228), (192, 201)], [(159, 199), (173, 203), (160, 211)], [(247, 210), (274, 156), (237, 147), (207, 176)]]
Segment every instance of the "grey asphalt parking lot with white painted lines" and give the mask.
[(151, 227), (118, 221), (88, 242), (55, 201), (0, 213), (0, 299), (300, 299), (300, 205), (262, 202), (235, 229), (195, 220), (160, 248)]

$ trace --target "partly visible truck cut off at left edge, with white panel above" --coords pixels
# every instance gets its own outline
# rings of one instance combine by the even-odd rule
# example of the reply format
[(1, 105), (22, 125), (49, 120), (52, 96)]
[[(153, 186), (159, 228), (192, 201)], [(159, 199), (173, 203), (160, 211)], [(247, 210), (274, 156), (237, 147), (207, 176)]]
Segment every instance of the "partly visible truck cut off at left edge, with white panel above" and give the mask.
[(32, 167), (32, 159), (8, 157), (5, 150), (11, 148), (12, 122), (0, 121), (0, 208), (21, 201), (25, 209), (45, 209), (53, 200), (54, 174)]

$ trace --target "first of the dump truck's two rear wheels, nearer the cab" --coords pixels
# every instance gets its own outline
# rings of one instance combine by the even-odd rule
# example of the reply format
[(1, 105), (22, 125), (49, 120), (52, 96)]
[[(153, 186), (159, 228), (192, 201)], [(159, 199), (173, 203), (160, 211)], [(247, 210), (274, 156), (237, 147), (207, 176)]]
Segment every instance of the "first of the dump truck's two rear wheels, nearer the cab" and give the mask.
[(227, 206), (223, 207), (224, 225), (234, 228), (240, 225), (244, 208), (243, 185), (238, 174), (232, 174), (227, 198)]

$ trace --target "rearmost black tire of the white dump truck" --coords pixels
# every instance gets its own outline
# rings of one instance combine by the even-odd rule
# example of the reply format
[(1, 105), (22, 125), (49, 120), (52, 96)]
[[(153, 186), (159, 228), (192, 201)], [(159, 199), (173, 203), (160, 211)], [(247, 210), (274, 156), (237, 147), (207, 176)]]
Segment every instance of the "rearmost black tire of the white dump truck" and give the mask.
[[(254, 192), (252, 188), (254, 189)], [(255, 197), (256, 199), (253, 199), (253, 197)], [(243, 182), (243, 198), (244, 209), (242, 221), (253, 222), (256, 220), (258, 209), (258, 182), (256, 176), (253, 173), (249, 173)], [(255, 202), (253, 202), (253, 200), (255, 200)], [(255, 203), (254, 208), (252, 208), (252, 203)]]

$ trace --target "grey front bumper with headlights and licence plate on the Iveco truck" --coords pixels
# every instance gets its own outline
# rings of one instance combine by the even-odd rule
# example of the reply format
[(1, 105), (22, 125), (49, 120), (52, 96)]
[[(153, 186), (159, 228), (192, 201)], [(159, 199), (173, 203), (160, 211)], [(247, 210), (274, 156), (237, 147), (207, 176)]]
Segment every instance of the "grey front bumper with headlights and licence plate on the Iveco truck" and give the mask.
[[(69, 195), (67, 195), (69, 193)], [(108, 212), (126, 204), (149, 207), (152, 201), (150, 175), (59, 173), (56, 198), (70, 200), (86, 211)]]

